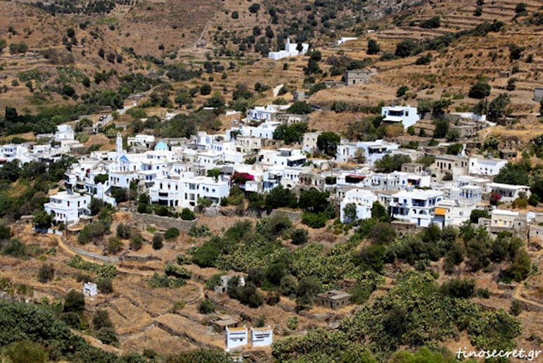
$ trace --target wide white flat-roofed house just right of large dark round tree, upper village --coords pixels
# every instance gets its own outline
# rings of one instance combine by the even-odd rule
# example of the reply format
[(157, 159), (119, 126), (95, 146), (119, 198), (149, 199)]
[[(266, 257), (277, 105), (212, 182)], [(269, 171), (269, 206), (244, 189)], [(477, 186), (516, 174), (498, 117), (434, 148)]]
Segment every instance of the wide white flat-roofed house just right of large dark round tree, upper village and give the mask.
[(354, 159), (357, 153), (361, 153), (366, 159), (367, 164), (373, 164), (383, 156), (398, 149), (399, 144), (383, 140), (363, 141), (363, 142), (340, 142), (337, 145), (336, 160), (339, 163)]

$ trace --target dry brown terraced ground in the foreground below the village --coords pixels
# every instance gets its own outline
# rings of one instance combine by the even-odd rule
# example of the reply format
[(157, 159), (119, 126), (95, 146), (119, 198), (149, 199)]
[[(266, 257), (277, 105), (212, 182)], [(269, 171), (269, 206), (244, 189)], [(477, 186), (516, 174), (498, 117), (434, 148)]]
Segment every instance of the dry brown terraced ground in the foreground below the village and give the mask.
[[(202, 217), (199, 219), (199, 224), (206, 223), (214, 233), (220, 233), (223, 228), (228, 228), (239, 220), (241, 219), (236, 217)], [(130, 223), (129, 215), (117, 213), (112, 229), (114, 230), (116, 223), (120, 222)], [(144, 226), (138, 227), (144, 228)], [(27, 226), (15, 227), (14, 232), (15, 237), (20, 238), (28, 246), (42, 247), (46, 250), (56, 247), (56, 254), (47, 255), (46, 258), (27, 260), (0, 257), (0, 264), (3, 266), (0, 276), (9, 276), (13, 283), (31, 285), (37, 299), (41, 297), (61, 298), (70, 289), (79, 290), (81, 288), (81, 283), (75, 281), (75, 274), (78, 270), (66, 266), (66, 263), (73, 257), (70, 246), (81, 247), (77, 244), (75, 238), (68, 238), (65, 245), (59, 245), (58, 238), (48, 235), (36, 235)], [(314, 242), (322, 242), (325, 245), (332, 245), (332, 243), (344, 241), (348, 237), (348, 235), (334, 235), (326, 229), (310, 229), (309, 239)], [(127, 241), (124, 242), (126, 250)], [(120, 351), (137, 350), (142, 352), (142, 350), (149, 348), (159, 353), (168, 354), (191, 350), (196, 347), (224, 347), (223, 333), (218, 333), (209, 326), (209, 321), (211, 321), (213, 315), (202, 315), (197, 310), (199, 302), (204, 298), (204, 294), (216, 302), (217, 312), (241, 318), (243, 324), (248, 326), (253, 326), (254, 321), (259, 316), (266, 316), (266, 324), (273, 326), (275, 338), (282, 338), (292, 333), (301, 333), (309, 328), (331, 328), (336, 326), (342, 317), (350, 316), (357, 309), (356, 305), (336, 311), (313, 307), (299, 316), (299, 328), (293, 332), (286, 326), (287, 319), (294, 316), (295, 304), (292, 300), (282, 297), (281, 301), (275, 306), (264, 304), (257, 309), (251, 309), (240, 304), (237, 300), (228, 298), (226, 295), (204, 290), (203, 281), (214, 273), (220, 272), (216, 269), (201, 269), (195, 265), (186, 265), (192, 271), (193, 277), (182, 288), (151, 288), (146, 283), (146, 280), (154, 271), (161, 272), (166, 263), (175, 262), (177, 254), (186, 253), (190, 247), (201, 245), (202, 242), (204, 240), (190, 238), (185, 233), (182, 233), (177, 240), (165, 241), (163, 249), (158, 251), (153, 250), (149, 242), (146, 242), (142, 250), (137, 252), (137, 255), (149, 256), (152, 257), (152, 260), (149, 262), (120, 262), (118, 264), (118, 276), (113, 279), (114, 293), (99, 295), (94, 300), (87, 299), (87, 312), (85, 315), (90, 317), (95, 309), (106, 309), (108, 311), (118, 333)], [(288, 242), (285, 241), (284, 243), (289, 246)], [(362, 242), (362, 245), (367, 243)], [(99, 254), (102, 250), (101, 245), (90, 244), (84, 248)], [(535, 263), (537, 263), (539, 269), (543, 268), (541, 255), (541, 252), (535, 253)], [(94, 261), (92, 259), (88, 260)], [(39, 283), (35, 278), (39, 266), (44, 263), (53, 264), (56, 275), (54, 281), (46, 284)], [(439, 283), (443, 283), (450, 278), (444, 273), (441, 262), (432, 262), (431, 267), (439, 271)], [(483, 273), (482, 271), (470, 273), (467, 266), (461, 265), (459, 267), (456, 273), (457, 277), (474, 278), (478, 288), (487, 288), (492, 294), (492, 298), (489, 300), (475, 298), (476, 302), (485, 307), (508, 310), (511, 306), (512, 297), (521, 302), (527, 301), (539, 305), (539, 307), (543, 306), (541, 276), (528, 278), (525, 285), (519, 285), (516, 290), (507, 295), (506, 291), (497, 288), (497, 273)], [(387, 267), (387, 270), (394, 271), (394, 273), (408, 269), (411, 269), (411, 266), (407, 264), (394, 264)], [(496, 271), (499, 271), (499, 269), (496, 269)], [(387, 277), (385, 284), (371, 295), (368, 304), (373, 303), (376, 297), (385, 294), (393, 285), (394, 278)], [(540, 314), (537, 311), (523, 311), (520, 313), (518, 318), (523, 324), (523, 333), (517, 339), (518, 347), (528, 350), (538, 348), (537, 343), (531, 340), (530, 336), (543, 330), (542, 321), (539, 319)], [(104, 347), (92, 337), (87, 336), (87, 340), (93, 345)], [(451, 351), (456, 351), (458, 347), (473, 349), (465, 333), (460, 334), (454, 340), (444, 342), (444, 346)], [(118, 351), (116, 347), (105, 347), (111, 351)], [(264, 349), (264, 351), (269, 353), (269, 349)]]

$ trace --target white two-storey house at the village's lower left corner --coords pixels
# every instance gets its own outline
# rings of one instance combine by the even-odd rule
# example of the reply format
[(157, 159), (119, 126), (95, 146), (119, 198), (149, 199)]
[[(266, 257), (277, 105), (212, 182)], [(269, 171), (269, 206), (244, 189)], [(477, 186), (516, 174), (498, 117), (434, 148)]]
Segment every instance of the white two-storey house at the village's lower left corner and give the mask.
[(44, 204), (48, 214), (54, 214), (54, 220), (67, 225), (79, 222), (81, 216), (90, 214), (90, 195), (74, 193), (71, 191), (58, 192)]

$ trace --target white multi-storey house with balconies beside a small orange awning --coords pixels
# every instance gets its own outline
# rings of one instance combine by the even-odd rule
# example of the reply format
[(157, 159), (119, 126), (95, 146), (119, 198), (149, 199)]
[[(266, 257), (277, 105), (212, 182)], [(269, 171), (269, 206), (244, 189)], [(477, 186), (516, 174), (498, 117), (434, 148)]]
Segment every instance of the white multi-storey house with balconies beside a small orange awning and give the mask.
[(443, 199), (440, 190), (401, 190), (392, 195), (389, 211), (396, 219), (427, 227), (432, 223), (435, 206)]

